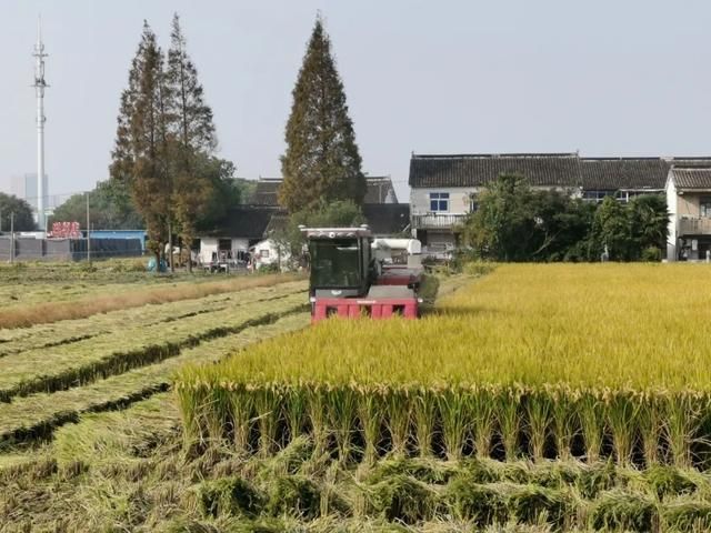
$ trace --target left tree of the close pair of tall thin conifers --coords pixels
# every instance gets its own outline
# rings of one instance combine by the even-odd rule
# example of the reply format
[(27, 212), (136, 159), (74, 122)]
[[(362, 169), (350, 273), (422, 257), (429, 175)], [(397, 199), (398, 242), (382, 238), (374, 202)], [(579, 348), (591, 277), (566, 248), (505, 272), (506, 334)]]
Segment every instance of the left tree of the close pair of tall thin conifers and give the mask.
[(156, 34), (143, 33), (121, 94), (117, 139), (111, 152), (111, 178), (129, 184), (131, 198), (146, 221), (150, 248), (160, 260), (170, 213), (170, 138), (163, 56)]

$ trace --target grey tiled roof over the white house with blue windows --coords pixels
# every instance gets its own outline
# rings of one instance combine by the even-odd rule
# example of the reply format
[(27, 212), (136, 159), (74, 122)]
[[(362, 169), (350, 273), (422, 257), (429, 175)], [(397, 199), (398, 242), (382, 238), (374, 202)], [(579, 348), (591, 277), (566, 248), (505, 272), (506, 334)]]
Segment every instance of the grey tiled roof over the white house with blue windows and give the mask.
[(575, 153), (412, 155), (410, 187), (483, 187), (502, 172), (534, 187), (580, 187)]

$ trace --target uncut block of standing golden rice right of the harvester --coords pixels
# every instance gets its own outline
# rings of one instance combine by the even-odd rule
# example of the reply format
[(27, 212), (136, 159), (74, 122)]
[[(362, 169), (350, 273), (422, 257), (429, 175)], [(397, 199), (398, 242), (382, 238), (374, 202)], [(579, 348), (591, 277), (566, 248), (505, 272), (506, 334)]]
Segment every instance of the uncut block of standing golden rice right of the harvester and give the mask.
[(701, 465), (710, 274), (502, 265), (420, 321), (330, 320), (184, 369), (187, 432), (263, 453), (310, 432), (344, 459), (385, 450)]

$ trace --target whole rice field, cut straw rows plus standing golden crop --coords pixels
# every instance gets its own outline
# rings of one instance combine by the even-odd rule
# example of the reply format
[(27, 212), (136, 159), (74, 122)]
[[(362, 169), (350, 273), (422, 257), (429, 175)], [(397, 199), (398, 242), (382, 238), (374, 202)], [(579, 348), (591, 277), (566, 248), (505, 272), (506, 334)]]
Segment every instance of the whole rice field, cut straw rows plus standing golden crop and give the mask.
[(498, 265), (420, 321), (308, 329), (284, 280), (2, 330), (0, 531), (710, 531), (707, 272)]

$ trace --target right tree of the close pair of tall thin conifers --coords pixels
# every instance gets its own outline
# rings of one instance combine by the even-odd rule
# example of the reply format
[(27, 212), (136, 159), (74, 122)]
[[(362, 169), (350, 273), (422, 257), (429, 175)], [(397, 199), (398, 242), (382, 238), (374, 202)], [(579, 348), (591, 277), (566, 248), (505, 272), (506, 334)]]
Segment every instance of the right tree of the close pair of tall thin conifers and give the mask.
[[(183, 244), (196, 237), (196, 222), (212, 193), (212, 182), (202, 164), (216, 148), (212, 110), (204, 103), (198, 70), (186, 50), (178, 14), (173, 16), (166, 80), (170, 100), (172, 145), (172, 208)], [(188, 261), (188, 269), (192, 264)]]

